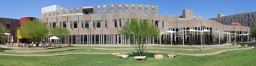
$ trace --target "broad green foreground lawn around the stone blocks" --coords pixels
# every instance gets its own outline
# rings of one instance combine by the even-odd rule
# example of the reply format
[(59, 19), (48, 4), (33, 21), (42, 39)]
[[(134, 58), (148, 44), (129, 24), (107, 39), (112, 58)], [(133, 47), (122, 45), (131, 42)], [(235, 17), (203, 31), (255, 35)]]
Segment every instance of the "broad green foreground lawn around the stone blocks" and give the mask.
[[(218, 55), (192, 57), (176, 55), (167, 58), (165, 53), (147, 54), (146, 61), (135, 61), (133, 56), (122, 59), (105, 54), (79, 54), (58, 57), (17, 57), (0, 55), (0, 66), (255, 66), (256, 49), (229, 51)], [(154, 59), (156, 54), (163, 59)]]

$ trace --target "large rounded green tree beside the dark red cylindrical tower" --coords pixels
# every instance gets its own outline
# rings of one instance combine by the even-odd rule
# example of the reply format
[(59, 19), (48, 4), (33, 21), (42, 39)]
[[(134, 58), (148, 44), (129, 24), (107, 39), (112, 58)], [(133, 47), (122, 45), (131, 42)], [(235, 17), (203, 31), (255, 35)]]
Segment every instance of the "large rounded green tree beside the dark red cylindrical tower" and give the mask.
[(25, 21), (23, 26), (18, 28), (18, 30), (20, 30), (18, 35), (22, 35), (32, 42), (36, 42), (38, 39), (46, 37), (50, 32), (50, 29), (46, 23), (39, 19)]

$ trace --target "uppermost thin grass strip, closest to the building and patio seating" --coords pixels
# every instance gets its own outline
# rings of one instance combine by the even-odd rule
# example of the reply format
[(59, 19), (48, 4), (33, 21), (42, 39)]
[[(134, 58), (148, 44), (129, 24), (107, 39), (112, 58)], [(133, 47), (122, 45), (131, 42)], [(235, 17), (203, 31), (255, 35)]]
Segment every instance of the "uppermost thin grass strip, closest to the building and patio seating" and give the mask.
[[(231, 47), (231, 46), (237, 46), (237, 45), (229, 45), (228, 47)], [(163, 46), (148, 46), (148, 47), (162, 47), (162, 48), (174, 48), (174, 49), (201, 49), (202, 48), (202, 47), (163, 47)], [(87, 48), (87, 47), (72, 46), (72, 47), (59, 47), (59, 48), (54, 48), (54, 49), (31, 49), (31, 50), (27, 50), (27, 49), (8, 49), (8, 50), (11, 50), (11, 51), (55, 51), (55, 50), (64, 50), (64, 49), (75, 49), (75, 48)], [(90, 48), (123, 49), (123, 48), (134, 48), (134, 47), (98, 47), (98, 46), (90, 46)]]

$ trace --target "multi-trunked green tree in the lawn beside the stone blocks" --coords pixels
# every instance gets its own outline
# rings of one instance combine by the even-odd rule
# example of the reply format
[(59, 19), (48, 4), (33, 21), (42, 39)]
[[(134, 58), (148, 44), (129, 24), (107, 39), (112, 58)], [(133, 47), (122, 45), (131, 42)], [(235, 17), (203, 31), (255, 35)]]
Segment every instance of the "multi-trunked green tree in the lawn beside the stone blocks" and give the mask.
[(137, 19), (132, 19), (130, 23), (125, 22), (118, 32), (125, 39), (130, 39), (130, 42), (133, 42), (131, 44), (140, 56), (144, 53), (150, 38), (157, 38), (160, 34), (159, 28), (154, 24), (150, 25), (148, 21), (140, 21), (138, 23)]

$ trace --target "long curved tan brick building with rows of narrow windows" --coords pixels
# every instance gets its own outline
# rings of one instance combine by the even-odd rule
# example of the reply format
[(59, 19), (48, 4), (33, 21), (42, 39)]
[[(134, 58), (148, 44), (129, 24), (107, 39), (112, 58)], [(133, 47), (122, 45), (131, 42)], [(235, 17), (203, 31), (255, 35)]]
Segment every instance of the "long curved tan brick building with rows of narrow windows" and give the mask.
[[(97, 6), (84, 6), (76, 8), (62, 8), (58, 5), (42, 8), (41, 20), (50, 29), (54, 26), (66, 27), (71, 34), (63, 37), (62, 44), (131, 44), (129, 39), (123, 39), (118, 30), (122, 29), (124, 22), (131, 19), (146, 20), (155, 24), (161, 32), (168, 30), (177, 31), (172, 34), (172, 41), (182, 43), (182, 30), (207, 30), (229, 32), (236, 34), (250, 33), (250, 27), (223, 24), (220, 21), (203, 19), (201, 16), (194, 16), (194, 11), (185, 9), (182, 15), (160, 15), (158, 6), (144, 4), (109, 4)], [(218, 20), (218, 19), (217, 19)], [(87, 29), (88, 28), (88, 29)], [(205, 32), (205, 40), (214, 42), (218, 40), (218, 33)], [(184, 32), (185, 42), (201, 41), (201, 33)], [(242, 36), (243, 41), (250, 41), (248, 36)], [(50, 38), (50, 36), (48, 36)], [(229, 36), (230, 41), (239, 41), (241, 36)], [(164, 33), (161, 37), (150, 38), (150, 44), (160, 44), (170, 41), (170, 33)], [(221, 41), (226, 41), (226, 34), (220, 35)], [(241, 40), (240, 40), (241, 41)]]

